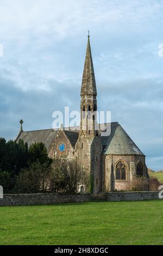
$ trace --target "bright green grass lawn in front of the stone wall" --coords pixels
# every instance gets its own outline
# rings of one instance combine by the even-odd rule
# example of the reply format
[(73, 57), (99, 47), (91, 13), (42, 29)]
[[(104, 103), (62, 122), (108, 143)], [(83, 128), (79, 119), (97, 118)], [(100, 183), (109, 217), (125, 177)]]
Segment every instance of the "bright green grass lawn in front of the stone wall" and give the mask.
[(0, 208), (1, 245), (163, 245), (163, 200)]

